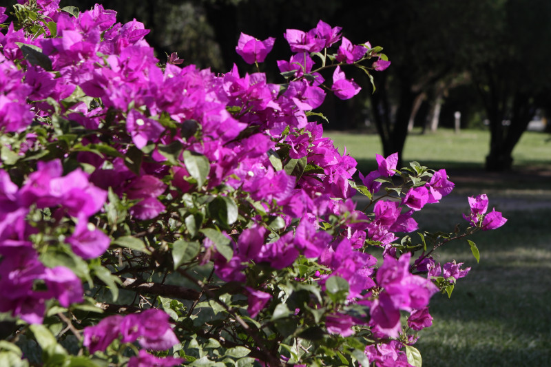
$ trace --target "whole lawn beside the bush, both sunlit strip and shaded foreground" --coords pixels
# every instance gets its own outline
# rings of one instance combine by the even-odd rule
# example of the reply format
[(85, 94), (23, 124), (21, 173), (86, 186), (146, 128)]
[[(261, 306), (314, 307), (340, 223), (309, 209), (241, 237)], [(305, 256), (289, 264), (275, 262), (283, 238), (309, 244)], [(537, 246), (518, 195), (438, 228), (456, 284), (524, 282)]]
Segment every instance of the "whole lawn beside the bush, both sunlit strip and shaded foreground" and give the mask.
[[(337, 147), (346, 146), (364, 174), (375, 169), (375, 154), (382, 151), (377, 135), (325, 135)], [(466, 196), (479, 193), (488, 193), (490, 207), (508, 218), (500, 229), (470, 238), (479, 248), (479, 264), (465, 240), (441, 251), (440, 262), (457, 260), (472, 269), (450, 299), (433, 296), (433, 326), (419, 334), (415, 345), (423, 366), (551, 366), (551, 176), (526, 174), (528, 166), (551, 170), (548, 139), (548, 134), (526, 132), (513, 151), (513, 172), (492, 176), (484, 173), (488, 132), (408, 136), (405, 162), (454, 171), (450, 176), (457, 184), (441, 205), (415, 215), (420, 229), (451, 231), (457, 223), (464, 225)]]

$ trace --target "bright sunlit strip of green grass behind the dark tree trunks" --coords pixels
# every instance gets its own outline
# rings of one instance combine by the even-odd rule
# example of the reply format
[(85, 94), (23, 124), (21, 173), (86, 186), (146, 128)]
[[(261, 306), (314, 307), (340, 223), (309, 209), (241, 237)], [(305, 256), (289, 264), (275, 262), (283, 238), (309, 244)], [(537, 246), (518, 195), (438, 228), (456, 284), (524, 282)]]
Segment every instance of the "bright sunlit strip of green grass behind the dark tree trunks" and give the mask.
[[(375, 168), (375, 154), (382, 154), (382, 145), (377, 134), (326, 132), (340, 151), (358, 161), (364, 171)], [(525, 132), (513, 151), (514, 167), (526, 165), (541, 166), (551, 163), (551, 141), (549, 134)], [(490, 146), (490, 133), (483, 130), (462, 130), (455, 134), (451, 129), (439, 129), (435, 134), (409, 134), (404, 147), (404, 162), (417, 160), (427, 167), (446, 169), (484, 168), (484, 160)]]

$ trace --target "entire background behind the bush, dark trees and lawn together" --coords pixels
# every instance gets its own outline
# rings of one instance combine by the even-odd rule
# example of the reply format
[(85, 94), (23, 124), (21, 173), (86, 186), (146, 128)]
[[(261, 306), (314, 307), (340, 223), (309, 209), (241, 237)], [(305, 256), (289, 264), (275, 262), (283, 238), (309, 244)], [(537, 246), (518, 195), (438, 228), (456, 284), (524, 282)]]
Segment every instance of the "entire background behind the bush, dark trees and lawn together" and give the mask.
[[(11, 0), (11, 3), (16, 1)], [(318, 20), (343, 28), (353, 43), (380, 45), (392, 61), (373, 72), (376, 90), (362, 86), (350, 101), (327, 95), (320, 111), (326, 136), (366, 174), (375, 154), (399, 152), (446, 168), (457, 184), (441, 205), (419, 213), (421, 228), (465, 226), (466, 196), (487, 193), (508, 223), (477, 242), (480, 264), (465, 243), (452, 244), (441, 262), (472, 266), (450, 300), (435, 295), (433, 327), (417, 347), (424, 366), (551, 366), (551, 1), (549, 0), (62, 0), (94, 3), (152, 29), (146, 39), (160, 62), (178, 52), (214, 72), (236, 63), (240, 32), (276, 38), (260, 65), (283, 81), (275, 61), (291, 53), (287, 28), (310, 30)], [(331, 71), (332, 72), (332, 71)], [(331, 74), (324, 75), (330, 78)]]

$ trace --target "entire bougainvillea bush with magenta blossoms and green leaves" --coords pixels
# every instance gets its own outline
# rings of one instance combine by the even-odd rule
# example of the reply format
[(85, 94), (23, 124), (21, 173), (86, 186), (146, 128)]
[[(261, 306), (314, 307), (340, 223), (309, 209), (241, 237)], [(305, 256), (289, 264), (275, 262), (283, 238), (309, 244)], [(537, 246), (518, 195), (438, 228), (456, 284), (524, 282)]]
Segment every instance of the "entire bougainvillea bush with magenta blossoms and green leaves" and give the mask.
[(273, 38), (241, 34), (250, 74), (215, 75), (159, 59), (142, 23), (99, 5), (19, 1), (13, 19), (0, 33), (1, 366), (421, 365), (430, 297), (469, 270), (434, 251), (506, 219), (481, 195), (464, 229), (418, 229), (454, 184), (397, 169), (396, 154), (354, 180), (313, 110), (360, 91), (347, 68), (388, 67), (382, 48), (323, 21), (287, 30), (274, 84), (259, 71)]

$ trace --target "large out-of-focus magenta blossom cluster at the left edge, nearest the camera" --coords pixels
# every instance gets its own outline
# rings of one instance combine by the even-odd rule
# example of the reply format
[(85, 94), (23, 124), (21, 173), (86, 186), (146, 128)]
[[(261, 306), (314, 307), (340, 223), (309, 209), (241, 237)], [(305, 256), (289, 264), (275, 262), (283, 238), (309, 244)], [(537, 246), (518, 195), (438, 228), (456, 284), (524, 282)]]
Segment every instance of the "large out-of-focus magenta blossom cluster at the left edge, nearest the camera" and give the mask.
[[(6, 292), (0, 312), (12, 311), (30, 323), (42, 322), (45, 300), (56, 298), (65, 307), (83, 300), (81, 281), (70, 269), (49, 269), (39, 261), (30, 240), (37, 233), (28, 219), (30, 208), (50, 208), (60, 226), (62, 218), (74, 218), (76, 227), (66, 242), (81, 258), (96, 258), (110, 245), (107, 235), (88, 222), (103, 207), (107, 193), (90, 184), (81, 169), (61, 175), (59, 160), (39, 162), (19, 188), (0, 170), (0, 289)], [(45, 291), (37, 290), (37, 281), (45, 283)]]

